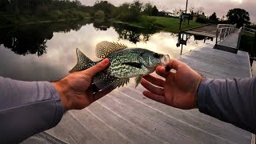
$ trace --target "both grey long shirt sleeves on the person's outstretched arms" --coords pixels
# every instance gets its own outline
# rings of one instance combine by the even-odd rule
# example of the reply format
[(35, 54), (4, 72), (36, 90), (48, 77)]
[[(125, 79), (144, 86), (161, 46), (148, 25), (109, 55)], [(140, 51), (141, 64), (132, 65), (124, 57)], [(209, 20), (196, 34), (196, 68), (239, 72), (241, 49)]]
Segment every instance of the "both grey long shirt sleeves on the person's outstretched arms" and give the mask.
[[(198, 88), (198, 109), (256, 132), (256, 78), (205, 79)], [(50, 82), (0, 77), (0, 143), (17, 143), (58, 124), (64, 112)]]

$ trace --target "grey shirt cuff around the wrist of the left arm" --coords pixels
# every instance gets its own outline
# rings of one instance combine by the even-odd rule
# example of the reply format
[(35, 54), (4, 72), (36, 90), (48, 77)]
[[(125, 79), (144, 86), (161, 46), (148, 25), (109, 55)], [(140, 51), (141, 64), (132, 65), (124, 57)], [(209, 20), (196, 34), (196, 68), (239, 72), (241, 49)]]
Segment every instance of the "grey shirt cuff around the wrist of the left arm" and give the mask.
[(50, 90), (50, 94), (53, 96), (55, 102), (55, 117), (51, 127), (57, 126), (58, 122), (61, 121), (62, 115), (64, 114), (64, 106), (61, 101), (61, 97), (58, 94), (58, 91), (50, 82), (43, 82), (46, 87)]

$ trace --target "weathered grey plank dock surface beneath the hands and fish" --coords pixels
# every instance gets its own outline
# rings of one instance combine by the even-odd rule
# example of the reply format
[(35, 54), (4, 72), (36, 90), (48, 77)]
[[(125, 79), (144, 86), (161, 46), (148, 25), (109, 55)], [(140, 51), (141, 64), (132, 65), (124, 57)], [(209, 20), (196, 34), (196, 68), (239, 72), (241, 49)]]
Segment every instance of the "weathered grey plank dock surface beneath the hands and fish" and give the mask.
[[(246, 52), (232, 54), (202, 47), (183, 54), (206, 78), (250, 78)], [(250, 143), (251, 134), (198, 110), (178, 110), (154, 102), (134, 89), (134, 82), (94, 102), (84, 110), (67, 112), (46, 134), (50, 143)], [(43, 137), (43, 139), (46, 136)]]

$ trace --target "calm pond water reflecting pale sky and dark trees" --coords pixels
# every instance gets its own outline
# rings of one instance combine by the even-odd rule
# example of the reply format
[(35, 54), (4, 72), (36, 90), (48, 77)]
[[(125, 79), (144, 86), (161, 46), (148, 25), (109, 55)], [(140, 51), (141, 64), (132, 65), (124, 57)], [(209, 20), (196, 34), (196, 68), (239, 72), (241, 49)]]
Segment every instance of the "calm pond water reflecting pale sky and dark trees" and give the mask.
[[(0, 29), (0, 76), (26, 81), (57, 80), (76, 64), (76, 48), (92, 60), (99, 60), (94, 49), (101, 41), (146, 48), (169, 54), (172, 58), (180, 55), (181, 48), (176, 47), (178, 34), (143, 32), (117, 26), (97, 28), (93, 23), (54, 25)], [(182, 54), (207, 43), (213, 42), (206, 40), (204, 43), (189, 36)]]

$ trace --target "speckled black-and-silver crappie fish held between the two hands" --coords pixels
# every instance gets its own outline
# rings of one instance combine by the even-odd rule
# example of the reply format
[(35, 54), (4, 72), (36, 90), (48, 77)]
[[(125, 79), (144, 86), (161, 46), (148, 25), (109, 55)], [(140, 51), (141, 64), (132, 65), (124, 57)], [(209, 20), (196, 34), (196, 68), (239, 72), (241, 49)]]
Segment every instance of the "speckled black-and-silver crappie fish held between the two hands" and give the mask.
[[(71, 72), (81, 71), (96, 65), (76, 50), (78, 63)], [(93, 86), (96, 91), (115, 89), (124, 86), (130, 78), (136, 77), (136, 86), (141, 82), (142, 76), (154, 72), (156, 66), (166, 66), (170, 62), (168, 54), (158, 54), (142, 48), (128, 48), (116, 42), (99, 42), (96, 46), (96, 56), (98, 58), (109, 58), (109, 67), (94, 76)]]

